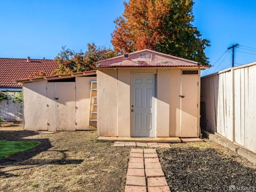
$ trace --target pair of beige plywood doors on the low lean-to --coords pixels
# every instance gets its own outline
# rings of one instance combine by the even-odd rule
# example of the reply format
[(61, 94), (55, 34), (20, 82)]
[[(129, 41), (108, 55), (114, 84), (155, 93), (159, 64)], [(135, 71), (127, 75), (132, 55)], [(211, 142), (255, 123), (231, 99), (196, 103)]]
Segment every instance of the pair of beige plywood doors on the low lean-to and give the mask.
[(75, 82), (47, 83), (49, 131), (75, 131)]

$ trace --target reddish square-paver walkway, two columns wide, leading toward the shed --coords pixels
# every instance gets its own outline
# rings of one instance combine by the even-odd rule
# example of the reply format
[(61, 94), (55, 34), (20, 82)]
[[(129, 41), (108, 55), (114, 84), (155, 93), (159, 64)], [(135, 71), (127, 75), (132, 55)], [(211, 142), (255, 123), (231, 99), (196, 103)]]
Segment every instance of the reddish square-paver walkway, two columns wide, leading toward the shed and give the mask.
[(170, 191), (156, 149), (131, 149), (125, 192)]

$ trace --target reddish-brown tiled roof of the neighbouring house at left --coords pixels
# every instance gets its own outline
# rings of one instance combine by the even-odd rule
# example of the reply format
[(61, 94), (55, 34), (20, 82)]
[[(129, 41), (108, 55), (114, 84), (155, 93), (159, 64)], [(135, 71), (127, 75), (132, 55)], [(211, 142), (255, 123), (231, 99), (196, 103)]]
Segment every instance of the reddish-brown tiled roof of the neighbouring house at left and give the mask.
[(13, 79), (26, 79), (39, 70), (49, 76), (56, 68), (58, 63), (49, 59), (0, 58), (0, 91), (21, 91), (21, 86), (13, 83)]

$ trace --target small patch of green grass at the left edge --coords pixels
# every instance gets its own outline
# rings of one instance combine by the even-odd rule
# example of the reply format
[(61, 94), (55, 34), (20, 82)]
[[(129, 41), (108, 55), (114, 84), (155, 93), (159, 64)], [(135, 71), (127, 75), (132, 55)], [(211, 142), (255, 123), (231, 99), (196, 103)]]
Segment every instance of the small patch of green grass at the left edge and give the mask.
[(34, 141), (0, 141), (0, 159), (10, 157), (21, 151), (33, 149), (39, 144), (40, 142)]

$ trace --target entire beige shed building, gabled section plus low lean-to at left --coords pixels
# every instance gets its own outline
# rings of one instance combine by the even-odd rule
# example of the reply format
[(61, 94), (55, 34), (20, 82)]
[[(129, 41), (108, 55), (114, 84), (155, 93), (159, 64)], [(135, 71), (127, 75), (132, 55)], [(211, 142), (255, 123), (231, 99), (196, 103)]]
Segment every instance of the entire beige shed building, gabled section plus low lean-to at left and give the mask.
[(98, 61), (96, 71), (18, 80), (24, 129), (90, 130), (95, 113), (99, 137), (199, 137), (200, 70), (208, 67), (141, 50)]

